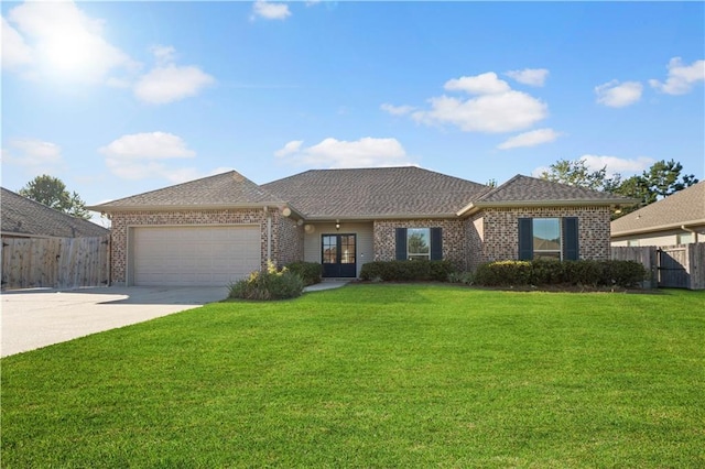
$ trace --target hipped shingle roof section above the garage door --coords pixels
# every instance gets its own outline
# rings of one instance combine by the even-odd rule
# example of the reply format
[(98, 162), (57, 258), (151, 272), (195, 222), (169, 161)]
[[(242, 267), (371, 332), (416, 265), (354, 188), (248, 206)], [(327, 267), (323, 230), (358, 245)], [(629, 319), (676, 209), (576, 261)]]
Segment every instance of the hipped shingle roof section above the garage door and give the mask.
[(284, 201), (237, 171), (90, 206), (96, 211), (225, 208), (281, 205)]

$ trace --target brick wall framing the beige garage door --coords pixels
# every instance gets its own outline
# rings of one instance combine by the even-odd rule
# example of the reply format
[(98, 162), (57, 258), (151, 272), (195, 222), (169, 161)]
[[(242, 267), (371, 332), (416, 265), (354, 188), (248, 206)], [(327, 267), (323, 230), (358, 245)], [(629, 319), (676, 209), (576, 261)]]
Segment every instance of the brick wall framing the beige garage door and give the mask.
[[(272, 216), (272, 258), (276, 263), (276, 227), (279, 212)], [(126, 284), (128, 261), (128, 228), (139, 226), (187, 226), (187, 225), (259, 225), (261, 231), (260, 253), (262, 266), (267, 265), (267, 214), (263, 209), (246, 210), (185, 210), (185, 211), (123, 211), (111, 216), (111, 279), (112, 283)], [(286, 230), (285, 228), (284, 230)]]

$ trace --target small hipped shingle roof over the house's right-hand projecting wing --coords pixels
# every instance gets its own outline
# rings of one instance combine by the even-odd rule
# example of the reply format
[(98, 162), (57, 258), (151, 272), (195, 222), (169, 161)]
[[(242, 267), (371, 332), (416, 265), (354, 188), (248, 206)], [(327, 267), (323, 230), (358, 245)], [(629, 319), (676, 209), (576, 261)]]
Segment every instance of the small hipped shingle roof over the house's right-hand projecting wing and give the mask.
[(636, 201), (609, 193), (517, 175), (476, 198), (457, 215), (471, 214), (487, 207), (606, 206), (631, 205)]

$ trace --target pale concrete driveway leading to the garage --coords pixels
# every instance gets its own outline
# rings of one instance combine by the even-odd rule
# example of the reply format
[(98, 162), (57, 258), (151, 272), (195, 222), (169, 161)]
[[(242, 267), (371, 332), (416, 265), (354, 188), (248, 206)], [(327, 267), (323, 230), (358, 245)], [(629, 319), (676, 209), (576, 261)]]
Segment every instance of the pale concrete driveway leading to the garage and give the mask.
[(2, 292), (0, 356), (192, 309), (227, 296), (227, 287), (194, 286)]

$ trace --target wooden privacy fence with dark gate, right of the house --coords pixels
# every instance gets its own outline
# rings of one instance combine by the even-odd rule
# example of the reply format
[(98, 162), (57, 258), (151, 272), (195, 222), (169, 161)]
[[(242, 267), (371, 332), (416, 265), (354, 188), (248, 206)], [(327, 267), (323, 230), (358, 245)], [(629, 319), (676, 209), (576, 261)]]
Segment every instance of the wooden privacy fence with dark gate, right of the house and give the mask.
[(705, 242), (657, 248), (611, 248), (615, 260), (637, 261), (651, 273), (651, 287), (705, 290)]

